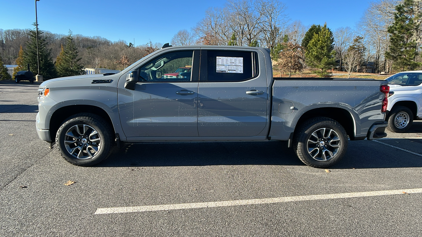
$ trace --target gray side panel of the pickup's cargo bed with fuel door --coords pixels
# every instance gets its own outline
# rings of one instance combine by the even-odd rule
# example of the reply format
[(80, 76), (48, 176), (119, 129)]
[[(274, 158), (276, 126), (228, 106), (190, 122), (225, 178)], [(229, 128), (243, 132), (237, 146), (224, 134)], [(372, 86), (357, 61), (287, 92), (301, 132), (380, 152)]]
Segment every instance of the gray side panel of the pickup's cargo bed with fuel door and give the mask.
[(288, 140), (299, 118), (318, 109), (320, 116), (353, 120), (349, 137), (364, 139), (374, 122), (384, 121), (381, 103), (385, 95), (380, 86), (387, 83), (366, 78), (274, 78), (271, 139)]

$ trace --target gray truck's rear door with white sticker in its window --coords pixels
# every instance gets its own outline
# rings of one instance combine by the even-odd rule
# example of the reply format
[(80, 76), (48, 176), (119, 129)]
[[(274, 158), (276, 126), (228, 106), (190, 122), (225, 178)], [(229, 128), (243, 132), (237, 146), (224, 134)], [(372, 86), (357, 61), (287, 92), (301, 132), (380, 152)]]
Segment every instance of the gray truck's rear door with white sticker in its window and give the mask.
[(256, 51), (201, 50), (200, 137), (252, 137), (267, 124), (268, 85)]

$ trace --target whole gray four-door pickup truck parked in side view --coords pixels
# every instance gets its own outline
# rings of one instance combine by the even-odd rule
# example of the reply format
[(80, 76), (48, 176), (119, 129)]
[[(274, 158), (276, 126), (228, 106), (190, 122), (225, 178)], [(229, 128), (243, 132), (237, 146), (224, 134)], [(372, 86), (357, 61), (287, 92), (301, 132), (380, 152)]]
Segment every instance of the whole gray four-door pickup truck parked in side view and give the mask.
[[(163, 76), (180, 67), (191, 70)], [(165, 45), (114, 75), (43, 82), (36, 128), (80, 166), (125, 142), (281, 140), (325, 168), (348, 140), (387, 135), (387, 83), (273, 78), (267, 48)]]

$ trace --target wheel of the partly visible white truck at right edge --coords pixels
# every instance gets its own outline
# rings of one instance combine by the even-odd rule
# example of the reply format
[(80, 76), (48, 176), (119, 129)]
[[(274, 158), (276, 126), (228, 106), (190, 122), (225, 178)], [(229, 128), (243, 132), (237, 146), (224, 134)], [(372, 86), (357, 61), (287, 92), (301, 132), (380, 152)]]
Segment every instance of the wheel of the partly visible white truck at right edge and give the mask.
[(387, 122), (387, 129), (391, 132), (406, 132), (413, 124), (412, 110), (405, 106), (395, 106), (388, 114)]

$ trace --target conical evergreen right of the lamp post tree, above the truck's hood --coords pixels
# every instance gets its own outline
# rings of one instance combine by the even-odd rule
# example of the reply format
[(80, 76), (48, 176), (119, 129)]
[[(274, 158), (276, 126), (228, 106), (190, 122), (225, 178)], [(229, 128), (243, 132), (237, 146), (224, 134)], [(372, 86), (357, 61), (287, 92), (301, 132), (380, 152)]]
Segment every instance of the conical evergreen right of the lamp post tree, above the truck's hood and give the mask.
[(66, 38), (66, 44), (57, 57), (56, 68), (57, 74), (60, 77), (82, 75), (84, 73), (83, 66), (79, 64), (81, 58), (78, 58), (78, 50), (73, 39), (72, 31), (69, 30), (69, 35)]

